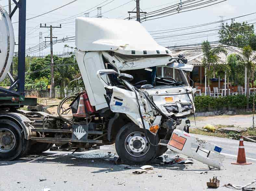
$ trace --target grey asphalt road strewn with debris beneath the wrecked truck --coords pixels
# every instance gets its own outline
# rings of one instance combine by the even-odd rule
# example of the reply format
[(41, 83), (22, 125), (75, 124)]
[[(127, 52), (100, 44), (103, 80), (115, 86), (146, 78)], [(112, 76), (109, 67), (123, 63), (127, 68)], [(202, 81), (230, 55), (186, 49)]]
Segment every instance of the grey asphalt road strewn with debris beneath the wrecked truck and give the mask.
[[(213, 190), (206, 182), (218, 176), (218, 190), (230, 190), (224, 184), (245, 185), (256, 178), (256, 143), (244, 142), (247, 161), (251, 165), (231, 165), (236, 161), (239, 141), (224, 138), (199, 136), (224, 147), (224, 168), (208, 170), (207, 165), (194, 164), (158, 166), (160, 160), (150, 162), (154, 169), (147, 174), (132, 174), (140, 166), (124, 169), (125, 164), (115, 165), (108, 152), (115, 153), (113, 145), (100, 150), (79, 152), (44, 152), (12, 162), (0, 162), (0, 191), (83, 191), (83, 190)], [(168, 158), (177, 155), (167, 151)], [(203, 168), (203, 169), (202, 169)], [(198, 172), (208, 171), (207, 174)], [(161, 175), (162, 177), (158, 177)], [(40, 182), (39, 179), (46, 179)], [(118, 184), (123, 183), (123, 184)], [(254, 184), (255, 186), (255, 184)]]

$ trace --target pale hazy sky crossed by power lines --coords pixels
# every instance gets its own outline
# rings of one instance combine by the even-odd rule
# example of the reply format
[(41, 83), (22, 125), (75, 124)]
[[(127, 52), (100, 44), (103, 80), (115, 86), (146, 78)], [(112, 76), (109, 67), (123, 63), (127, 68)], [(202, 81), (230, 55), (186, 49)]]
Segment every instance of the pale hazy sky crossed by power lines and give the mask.
[[(54, 8), (57, 8), (58, 6), (64, 5), (66, 3), (69, 3), (71, 0), (27, 0), (27, 18), (34, 17), (37, 15), (40, 15), (42, 13), (45, 13), (49, 10), (52, 10)], [(52, 13), (49, 13), (47, 15), (37, 17), (31, 20), (27, 21), (27, 39), (26, 39), (26, 48), (35, 46), (39, 43), (39, 32), (43, 32), (43, 41), (44, 37), (49, 36), (49, 30), (47, 28), (39, 28), (40, 23), (47, 25), (51, 24), (53, 21), (58, 21), (60, 19), (65, 19), (67, 17), (85, 12), (87, 9), (90, 9), (100, 3), (102, 3), (104, 0), (78, 0), (77, 2), (74, 2), (71, 5), (68, 5), (66, 7), (63, 7), (61, 9), (58, 9), (57, 11), (54, 11)], [(112, 2), (111, 2), (112, 1)], [(121, 6), (115, 10), (109, 11), (115, 7), (118, 7), (126, 2), (129, 2), (129, 0), (109, 0), (107, 2), (111, 2), (110, 4), (102, 7), (102, 15), (103, 17), (107, 18), (120, 18), (123, 19), (125, 17), (128, 17), (127, 11), (131, 11), (135, 8), (136, 3), (134, 1)], [(107, 3), (106, 2), (106, 3)], [(159, 8), (164, 8), (166, 6), (170, 6), (172, 4), (175, 4), (179, 2), (178, 0), (141, 0), (140, 6), (143, 11), (153, 11)], [(6, 6), (8, 5), (8, 0), (0, 0), (0, 5)], [(158, 6), (158, 7), (155, 7)], [(12, 8), (14, 5), (12, 6)], [(219, 16), (224, 16), (224, 19), (226, 18), (232, 18), (237, 17), (240, 15), (245, 15), (248, 13), (255, 12), (256, 7), (256, 1), (255, 0), (228, 0), (226, 2), (223, 2), (218, 5), (213, 5), (210, 7), (206, 7), (199, 10), (194, 10), (191, 12), (186, 13), (180, 13), (173, 16), (160, 18), (152, 21), (146, 21), (143, 22), (142, 25), (148, 30), (148, 31), (154, 31), (154, 30), (161, 30), (161, 29), (173, 29), (173, 28), (179, 28), (179, 27), (186, 27), (191, 25), (197, 25), (197, 24), (203, 24), (208, 23), (212, 21), (220, 20)], [(8, 7), (6, 7), (6, 10), (8, 10)], [(107, 12), (108, 11), (108, 12)], [(104, 13), (106, 12), (106, 13)], [(90, 17), (94, 17), (97, 15), (97, 10), (90, 12)], [(246, 20), (256, 20), (256, 14), (248, 17), (242, 17), (237, 19), (238, 22), (246, 21)], [(255, 22), (255, 20), (250, 21)], [(13, 22), (18, 21), (18, 12), (15, 13), (13, 16)], [(249, 23), (250, 23), (249, 22)], [(74, 36), (75, 34), (75, 19), (70, 19), (68, 21), (62, 21), (62, 22), (56, 22), (52, 23), (53, 26), (58, 26), (59, 24), (62, 24), (62, 28), (56, 28), (53, 31), (54, 36), (58, 37), (59, 39), (66, 37), (66, 36)], [(15, 36), (16, 41), (18, 41), (18, 23), (13, 24), (15, 28)], [(215, 25), (209, 25), (201, 28), (194, 28), (184, 31), (177, 31), (169, 33), (170, 35), (178, 35), (181, 33), (189, 33), (193, 32), (195, 30), (206, 30), (210, 28), (216, 28), (219, 24)], [(214, 32), (205, 32), (203, 34), (199, 34), (202, 36), (208, 37), (198, 37), (198, 34), (195, 35), (187, 35), (187, 36), (178, 36), (173, 37), (169, 39), (161, 39), (158, 40), (158, 42), (162, 43), (162, 45), (182, 45), (182, 44), (191, 44), (191, 43), (200, 43), (203, 40), (208, 39), (209, 41), (214, 41), (218, 39), (218, 36), (212, 36), (214, 34), (217, 34), (217, 31)], [(194, 38), (194, 39), (191, 39)], [(184, 40), (186, 39), (186, 40)], [(177, 41), (179, 40), (179, 41)], [(54, 52), (62, 52), (64, 50), (63, 46), (65, 43), (58, 43), (54, 45)], [(74, 43), (69, 43), (70, 46), (75, 46)], [(17, 47), (16, 47), (17, 50)], [(49, 52), (49, 48), (45, 49), (43, 52)]]

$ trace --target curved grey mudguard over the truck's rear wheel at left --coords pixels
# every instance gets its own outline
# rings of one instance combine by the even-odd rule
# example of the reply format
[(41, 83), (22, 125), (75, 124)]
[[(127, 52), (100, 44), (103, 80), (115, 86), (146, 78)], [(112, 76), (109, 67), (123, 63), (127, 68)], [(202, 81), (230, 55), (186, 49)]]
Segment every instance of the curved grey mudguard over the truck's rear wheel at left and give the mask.
[(20, 128), (24, 130), (24, 138), (26, 140), (30, 139), (30, 128), (28, 127), (28, 124), (31, 123), (31, 120), (29, 118), (20, 113), (6, 113), (0, 115), (0, 119), (10, 119), (13, 122), (17, 123)]

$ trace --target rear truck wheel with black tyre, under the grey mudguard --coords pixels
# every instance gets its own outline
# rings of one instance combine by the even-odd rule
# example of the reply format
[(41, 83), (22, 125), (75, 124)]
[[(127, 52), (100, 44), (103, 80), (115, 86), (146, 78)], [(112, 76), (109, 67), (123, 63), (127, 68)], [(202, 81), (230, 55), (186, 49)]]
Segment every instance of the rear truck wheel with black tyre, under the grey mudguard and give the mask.
[(11, 161), (27, 153), (29, 141), (11, 120), (0, 120), (0, 161)]

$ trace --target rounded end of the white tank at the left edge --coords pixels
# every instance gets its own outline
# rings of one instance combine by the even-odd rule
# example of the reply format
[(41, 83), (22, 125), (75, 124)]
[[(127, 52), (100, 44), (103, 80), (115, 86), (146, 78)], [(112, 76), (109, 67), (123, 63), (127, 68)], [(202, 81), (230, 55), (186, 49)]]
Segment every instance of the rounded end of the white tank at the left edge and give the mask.
[(0, 82), (8, 73), (14, 53), (14, 30), (6, 10), (0, 5)]

